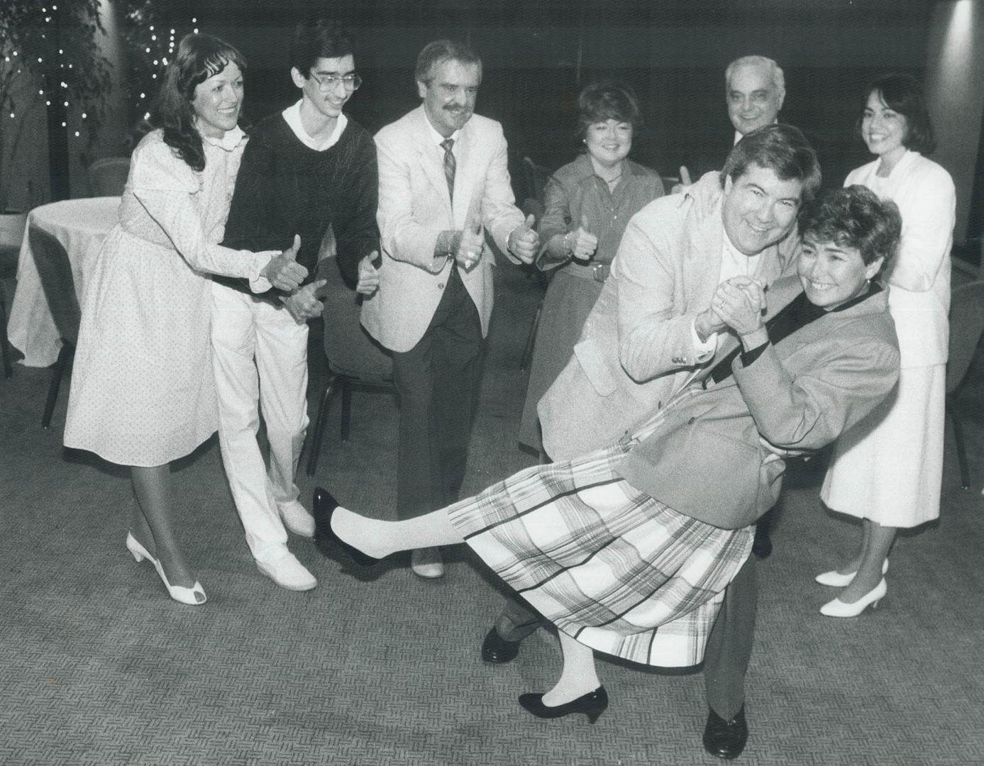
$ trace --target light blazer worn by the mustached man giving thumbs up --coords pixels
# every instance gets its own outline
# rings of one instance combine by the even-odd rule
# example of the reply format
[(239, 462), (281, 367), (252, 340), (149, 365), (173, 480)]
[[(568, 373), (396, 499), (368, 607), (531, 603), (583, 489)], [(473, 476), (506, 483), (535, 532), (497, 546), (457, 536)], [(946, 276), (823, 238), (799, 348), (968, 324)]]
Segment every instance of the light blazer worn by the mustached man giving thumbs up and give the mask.
[[(379, 159), (379, 222), (383, 265), (379, 290), (362, 305), (362, 324), (393, 351), (409, 351), (423, 336), (448, 284), (451, 264), (435, 260), (442, 231), (461, 229), (473, 198), (481, 200), (486, 245), (461, 281), (481, 318), (482, 334), (492, 314), (492, 266), (488, 238), (509, 256), (506, 240), (523, 223), (514, 204), (506, 167), (506, 139), (494, 120), (472, 115), (455, 147), (457, 169), (452, 205), (444, 175), (444, 150), (433, 141), (423, 105), (376, 134)], [(509, 256), (514, 260), (512, 256)]]

